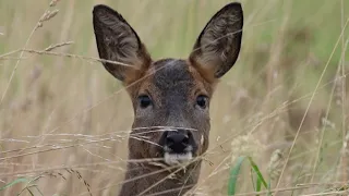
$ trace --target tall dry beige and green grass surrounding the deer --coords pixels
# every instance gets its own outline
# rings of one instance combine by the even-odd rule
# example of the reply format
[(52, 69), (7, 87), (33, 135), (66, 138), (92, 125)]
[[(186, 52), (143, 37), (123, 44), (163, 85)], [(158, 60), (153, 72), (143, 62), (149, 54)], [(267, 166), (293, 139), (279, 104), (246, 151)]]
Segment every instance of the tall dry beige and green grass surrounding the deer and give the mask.
[[(50, 2), (0, 0), (0, 195), (116, 194), (133, 113), (98, 62), (93, 7), (121, 12), (160, 59), (186, 58), (229, 1)], [(193, 192), (227, 195), (231, 168), (250, 156), (273, 194), (346, 194), (349, 3), (241, 3), (242, 51), (210, 105)], [(234, 193), (256, 194), (254, 172), (241, 164)]]

